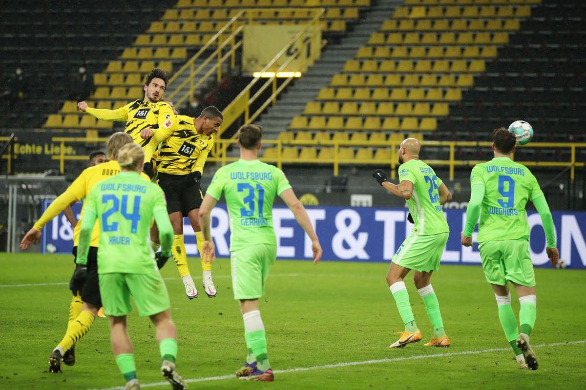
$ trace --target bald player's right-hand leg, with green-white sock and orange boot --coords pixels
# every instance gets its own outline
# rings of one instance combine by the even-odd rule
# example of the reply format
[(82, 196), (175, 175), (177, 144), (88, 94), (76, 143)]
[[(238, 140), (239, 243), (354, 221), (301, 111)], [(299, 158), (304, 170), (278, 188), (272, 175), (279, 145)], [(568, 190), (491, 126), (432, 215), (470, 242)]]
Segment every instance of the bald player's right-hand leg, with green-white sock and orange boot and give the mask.
[(435, 295), (434, 288), (431, 286), (431, 274), (433, 271), (420, 272), (415, 271), (414, 281), (417, 292), (423, 299), (427, 316), (430, 317), (431, 325), (434, 327), (434, 337), (425, 346), (432, 347), (449, 347), (449, 339), (445, 334), (444, 322), (440, 312), (440, 302)]

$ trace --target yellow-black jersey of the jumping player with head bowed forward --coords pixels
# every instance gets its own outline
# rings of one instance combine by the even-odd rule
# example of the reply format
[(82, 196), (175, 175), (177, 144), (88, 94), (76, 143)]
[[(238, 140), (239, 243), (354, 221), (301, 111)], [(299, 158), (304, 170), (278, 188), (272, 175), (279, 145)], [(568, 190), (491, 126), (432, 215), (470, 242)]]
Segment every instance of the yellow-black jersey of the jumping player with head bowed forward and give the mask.
[(213, 134), (199, 134), (193, 125), (193, 118), (176, 115), (171, 119), (171, 135), (161, 144), (156, 169), (171, 175), (187, 175), (203, 172), (207, 155), (214, 144)]

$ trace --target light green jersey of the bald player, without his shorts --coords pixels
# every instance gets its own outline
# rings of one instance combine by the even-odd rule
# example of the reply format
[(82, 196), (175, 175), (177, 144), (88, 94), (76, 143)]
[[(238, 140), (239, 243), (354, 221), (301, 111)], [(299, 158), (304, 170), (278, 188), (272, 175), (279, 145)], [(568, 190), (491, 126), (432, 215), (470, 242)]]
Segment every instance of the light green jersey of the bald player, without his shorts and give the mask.
[(421, 160), (409, 160), (398, 168), (399, 182), (413, 183), (413, 196), (407, 200), (415, 226), (413, 234), (430, 236), (449, 232), (438, 188), (442, 181), (434, 170)]

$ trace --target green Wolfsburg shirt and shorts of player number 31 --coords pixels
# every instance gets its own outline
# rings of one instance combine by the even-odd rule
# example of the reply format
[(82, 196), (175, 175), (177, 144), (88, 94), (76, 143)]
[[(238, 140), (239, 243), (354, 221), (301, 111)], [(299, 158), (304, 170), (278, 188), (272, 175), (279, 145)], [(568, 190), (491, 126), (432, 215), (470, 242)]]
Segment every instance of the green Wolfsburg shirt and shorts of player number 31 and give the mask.
[(277, 257), (272, 227), (275, 196), (291, 188), (285, 174), (260, 160), (239, 160), (214, 175), (206, 194), (226, 197), (230, 217), (230, 262), (234, 299), (264, 295), (268, 271)]

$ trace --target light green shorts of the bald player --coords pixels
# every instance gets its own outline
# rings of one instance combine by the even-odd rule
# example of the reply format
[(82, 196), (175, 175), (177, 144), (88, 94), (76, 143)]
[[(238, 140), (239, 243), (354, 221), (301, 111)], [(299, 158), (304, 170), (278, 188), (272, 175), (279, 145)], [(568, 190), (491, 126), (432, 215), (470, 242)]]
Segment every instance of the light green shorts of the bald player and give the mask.
[(429, 272), (440, 269), (441, 255), (449, 233), (418, 236), (410, 234), (393, 256), (393, 263), (410, 270)]

